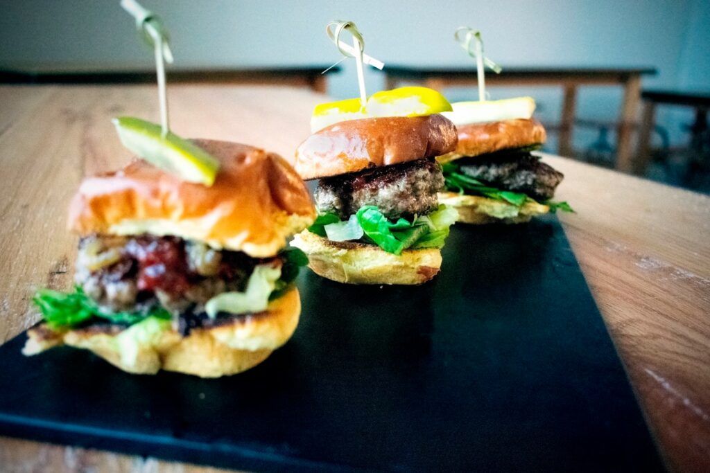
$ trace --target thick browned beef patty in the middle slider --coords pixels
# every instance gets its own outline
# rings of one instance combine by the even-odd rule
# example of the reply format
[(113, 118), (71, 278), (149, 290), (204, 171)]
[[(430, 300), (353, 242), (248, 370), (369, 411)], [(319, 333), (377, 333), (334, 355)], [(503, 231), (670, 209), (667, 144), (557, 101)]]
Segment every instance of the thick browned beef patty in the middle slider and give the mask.
[(320, 179), (314, 197), (319, 213), (337, 213), (343, 220), (366, 205), (399, 218), (435, 211), (443, 187), (439, 165), (424, 159)]

